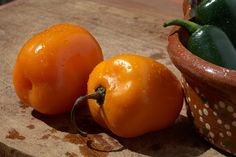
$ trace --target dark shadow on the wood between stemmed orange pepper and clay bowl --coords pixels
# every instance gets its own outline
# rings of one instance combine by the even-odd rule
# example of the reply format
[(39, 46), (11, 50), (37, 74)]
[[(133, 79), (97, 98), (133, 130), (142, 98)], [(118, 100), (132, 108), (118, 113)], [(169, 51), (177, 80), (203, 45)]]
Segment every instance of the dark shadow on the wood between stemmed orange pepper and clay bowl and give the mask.
[(199, 156), (211, 148), (184, 116), (180, 116), (171, 128), (132, 139), (119, 138), (118, 141), (126, 149), (154, 157)]

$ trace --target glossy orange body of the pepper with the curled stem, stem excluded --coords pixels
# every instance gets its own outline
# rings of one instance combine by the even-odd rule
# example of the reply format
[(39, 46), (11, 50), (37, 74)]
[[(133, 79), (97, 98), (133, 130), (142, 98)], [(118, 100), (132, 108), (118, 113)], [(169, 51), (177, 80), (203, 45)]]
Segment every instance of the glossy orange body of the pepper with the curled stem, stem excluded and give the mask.
[(172, 125), (183, 104), (175, 75), (146, 57), (124, 54), (98, 64), (88, 93), (105, 89), (100, 103), (88, 100), (94, 120), (121, 137), (136, 137)]

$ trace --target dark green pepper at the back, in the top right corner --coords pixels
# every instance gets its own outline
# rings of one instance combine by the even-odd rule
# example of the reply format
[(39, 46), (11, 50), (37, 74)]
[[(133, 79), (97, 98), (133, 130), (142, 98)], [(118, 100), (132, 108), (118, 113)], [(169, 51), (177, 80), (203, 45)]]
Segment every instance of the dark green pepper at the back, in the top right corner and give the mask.
[(236, 0), (203, 0), (196, 8), (196, 21), (221, 28), (236, 48)]

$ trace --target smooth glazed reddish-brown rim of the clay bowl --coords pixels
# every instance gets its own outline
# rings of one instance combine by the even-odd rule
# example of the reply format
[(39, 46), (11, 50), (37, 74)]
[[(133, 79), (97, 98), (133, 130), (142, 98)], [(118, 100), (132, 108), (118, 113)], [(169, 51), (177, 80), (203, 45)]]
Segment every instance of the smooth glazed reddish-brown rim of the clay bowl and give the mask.
[(192, 54), (180, 41), (181, 29), (179, 26), (174, 26), (168, 36), (167, 51), (173, 64), (182, 73), (194, 75), (199, 80), (207, 81), (214, 86), (217, 84), (220, 87), (235, 89), (236, 70), (220, 67)]

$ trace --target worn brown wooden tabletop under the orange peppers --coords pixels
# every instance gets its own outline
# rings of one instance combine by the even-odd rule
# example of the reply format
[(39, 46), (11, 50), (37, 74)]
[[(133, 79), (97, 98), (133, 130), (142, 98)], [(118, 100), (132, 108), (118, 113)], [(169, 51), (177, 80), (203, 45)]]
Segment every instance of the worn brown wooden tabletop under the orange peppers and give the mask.
[[(176, 124), (138, 138), (123, 139), (99, 128), (88, 116), (82, 119), (90, 129), (88, 138), (70, 125), (69, 114), (45, 116), (19, 102), (12, 69), (17, 53), (33, 34), (62, 22), (88, 29), (99, 41), (105, 58), (134, 52), (165, 64), (179, 79), (168, 58), (170, 29), (162, 24), (182, 17), (180, 0), (15, 0), (0, 6), (0, 156), (224, 156), (194, 131), (183, 108)], [(101, 147), (103, 146), (103, 147)]]

